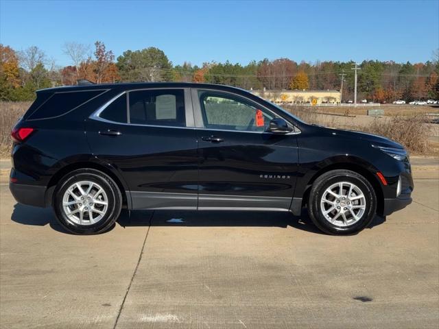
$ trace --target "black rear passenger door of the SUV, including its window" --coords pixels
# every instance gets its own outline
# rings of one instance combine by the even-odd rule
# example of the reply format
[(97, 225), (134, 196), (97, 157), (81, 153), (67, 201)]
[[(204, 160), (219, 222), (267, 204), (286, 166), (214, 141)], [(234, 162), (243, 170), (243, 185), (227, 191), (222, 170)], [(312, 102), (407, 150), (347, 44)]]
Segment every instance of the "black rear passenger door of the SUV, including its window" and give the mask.
[(86, 136), (93, 154), (126, 181), (130, 208), (197, 207), (189, 88), (127, 90), (92, 114)]

